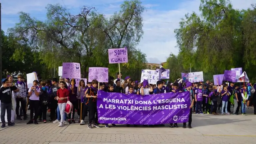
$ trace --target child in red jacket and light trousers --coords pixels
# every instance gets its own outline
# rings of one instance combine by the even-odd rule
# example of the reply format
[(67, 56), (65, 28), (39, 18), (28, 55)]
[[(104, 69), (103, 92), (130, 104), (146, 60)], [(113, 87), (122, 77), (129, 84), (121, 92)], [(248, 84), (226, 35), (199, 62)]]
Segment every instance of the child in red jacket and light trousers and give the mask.
[(57, 100), (60, 109), (60, 124), (59, 127), (64, 126), (64, 113), (66, 109), (66, 104), (69, 97), (69, 90), (65, 88), (65, 82), (60, 81), (60, 89), (57, 90)]

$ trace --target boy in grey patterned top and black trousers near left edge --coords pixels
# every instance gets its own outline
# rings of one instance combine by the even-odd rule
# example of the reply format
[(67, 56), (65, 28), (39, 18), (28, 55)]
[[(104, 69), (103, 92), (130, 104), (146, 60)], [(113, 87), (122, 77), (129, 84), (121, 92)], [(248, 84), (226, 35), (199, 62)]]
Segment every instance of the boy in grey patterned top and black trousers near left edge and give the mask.
[(27, 119), (27, 115), (26, 115), (26, 101), (24, 100), (27, 96), (27, 87), (26, 84), (22, 81), (23, 76), (22, 75), (18, 75), (18, 81), (15, 83), (15, 86), (20, 90), (19, 92), (16, 92), (16, 120), (22, 120), (21, 119), (21, 113), (19, 113), (19, 109), (20, 109), (20, 103), (21, 103), (21, 108), (23, 111), (23, 116), (24, 116), (24, 120)]

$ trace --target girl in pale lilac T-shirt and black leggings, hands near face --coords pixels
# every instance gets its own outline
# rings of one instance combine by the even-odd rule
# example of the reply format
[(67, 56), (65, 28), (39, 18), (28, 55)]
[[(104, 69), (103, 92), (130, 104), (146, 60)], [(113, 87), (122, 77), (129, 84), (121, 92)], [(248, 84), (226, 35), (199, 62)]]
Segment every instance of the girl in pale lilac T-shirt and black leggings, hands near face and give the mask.
[[(38, 118), (38, 108), (39, 108), (39, 94), (40, 94), (40, 88), (38, 87), (38, 81), (33, 81), (33, 86), (29, 88), (28, 90), (28, 96), (29, 96), (29, 107), (30, 107), (30, 121), (27, 122), (27, 124), (38, 124), (37, 118)], [(33, 114), (34, 118), (33, 118)]]

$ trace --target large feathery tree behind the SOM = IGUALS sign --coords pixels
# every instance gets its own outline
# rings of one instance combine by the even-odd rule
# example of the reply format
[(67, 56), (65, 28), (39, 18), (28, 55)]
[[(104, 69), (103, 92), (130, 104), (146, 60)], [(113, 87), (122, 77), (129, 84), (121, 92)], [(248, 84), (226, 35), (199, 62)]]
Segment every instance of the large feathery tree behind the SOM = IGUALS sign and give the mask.
[(58, 67), (62, 62), (78, 62), (84, 77), (88, 67), (109, 67), (110, 74), (114, 74), (118, 67), (108, 63), (108, 48), (124, 46), (128, 47), (129, 64), (136, 60), (133, 55), (138, 53), (134, 47), (143, 34), (144, 7), (140, 1), (125, 1), (120, 12), (109, 19), (94, 7), (84, 6), (76, 15), (59, 4), (46, 8), (45, 22), (21, 12), (20, 22), (9, 32), (20, 39), (27, 38), (48, 68)]

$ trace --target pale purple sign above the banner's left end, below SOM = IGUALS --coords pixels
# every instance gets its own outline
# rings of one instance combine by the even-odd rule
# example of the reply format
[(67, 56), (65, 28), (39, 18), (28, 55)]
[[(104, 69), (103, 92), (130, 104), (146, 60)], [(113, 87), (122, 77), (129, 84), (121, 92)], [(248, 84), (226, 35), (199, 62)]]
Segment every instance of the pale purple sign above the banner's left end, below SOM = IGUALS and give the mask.
[(90, 67), (88, 81), (97, 80), (98, 82), (108, 82), (108, 68)]

